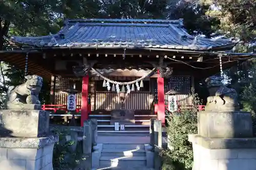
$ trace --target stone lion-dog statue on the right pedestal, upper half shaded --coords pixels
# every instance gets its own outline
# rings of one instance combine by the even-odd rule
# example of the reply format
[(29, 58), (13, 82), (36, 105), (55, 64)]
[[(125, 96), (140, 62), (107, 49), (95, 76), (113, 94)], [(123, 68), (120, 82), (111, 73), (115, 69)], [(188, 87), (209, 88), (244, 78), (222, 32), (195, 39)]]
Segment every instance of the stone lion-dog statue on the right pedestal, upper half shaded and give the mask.
[(226, 87), (217, 76), (211, 76), (205, 82), (209, 91), (205, 111), (239, 110), (238, 94), (235, 89)]

